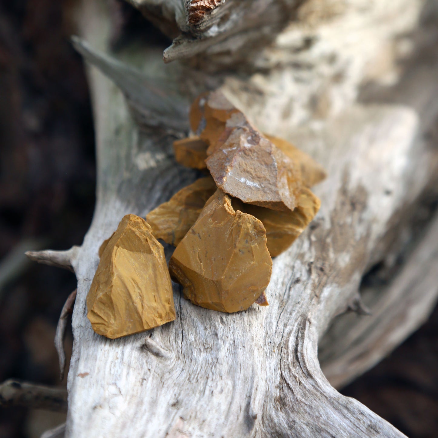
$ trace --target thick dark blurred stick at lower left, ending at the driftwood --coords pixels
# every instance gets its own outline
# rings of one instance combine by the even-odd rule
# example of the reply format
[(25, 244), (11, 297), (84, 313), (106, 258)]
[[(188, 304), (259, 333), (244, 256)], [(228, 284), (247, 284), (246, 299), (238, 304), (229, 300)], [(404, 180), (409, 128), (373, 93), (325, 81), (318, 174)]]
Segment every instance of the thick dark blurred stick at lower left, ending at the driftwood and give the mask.
[(0, 406), (67, 411), (67, 390), (9, 379), (0, 384)]

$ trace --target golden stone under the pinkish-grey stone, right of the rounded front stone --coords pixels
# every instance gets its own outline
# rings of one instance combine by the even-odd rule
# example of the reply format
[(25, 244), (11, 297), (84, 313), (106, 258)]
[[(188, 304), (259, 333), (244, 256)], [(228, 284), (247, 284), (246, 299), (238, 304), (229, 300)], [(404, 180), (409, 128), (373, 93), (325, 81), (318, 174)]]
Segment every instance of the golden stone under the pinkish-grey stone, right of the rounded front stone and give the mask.
[(256, 205), (243, 205), (242, 210), (260, 219), (265, 226), (269, 254), (276, 257), (293, 243), (318, 213), (321, 201), (308, 189), (301, 189), (293, 211), (276, 212)]

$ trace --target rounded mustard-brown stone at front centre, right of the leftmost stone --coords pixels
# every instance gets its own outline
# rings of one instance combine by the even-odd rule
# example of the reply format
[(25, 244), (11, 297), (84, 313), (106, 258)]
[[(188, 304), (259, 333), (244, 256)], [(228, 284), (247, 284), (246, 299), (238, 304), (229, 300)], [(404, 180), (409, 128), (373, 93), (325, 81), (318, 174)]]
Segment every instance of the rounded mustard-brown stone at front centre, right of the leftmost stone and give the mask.
[(175, 249), (169, 269), (192, 303), (229, 313), (245, 310), (271, 278), (265, 228), (235, 211), (230, 197), (217, 190)]

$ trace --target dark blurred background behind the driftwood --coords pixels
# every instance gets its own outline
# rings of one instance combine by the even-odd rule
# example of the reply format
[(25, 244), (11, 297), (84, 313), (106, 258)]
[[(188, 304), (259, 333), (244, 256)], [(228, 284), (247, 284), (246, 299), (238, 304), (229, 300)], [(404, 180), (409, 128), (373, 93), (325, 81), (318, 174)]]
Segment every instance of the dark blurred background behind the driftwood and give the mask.
[[(0, 381), (66, 385), (53, 338), (75, 277), (23, 256), (81, 244), (92, 219), (92, 111), (65, 7), (0, 0)], [(127, 18), (131, 28), (145, 23), (125, 9)], [(70, 330), (67, 360), (71, 345)], [(343, 393), (410, 437), (438, 436), (438, 311)], [(0, 437), (39, 437), (63, 421), (62, 413), (0, 408)]]

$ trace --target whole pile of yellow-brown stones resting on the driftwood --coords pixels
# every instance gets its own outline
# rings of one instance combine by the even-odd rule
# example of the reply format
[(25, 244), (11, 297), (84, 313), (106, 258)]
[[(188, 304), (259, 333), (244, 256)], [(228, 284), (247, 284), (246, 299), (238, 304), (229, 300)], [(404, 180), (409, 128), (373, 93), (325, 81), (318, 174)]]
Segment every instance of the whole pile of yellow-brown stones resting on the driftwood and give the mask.
[[(208, 176), (152, 210), (127, 215), (100, 250), (87, 298), (95, 332), (110, 338), (175, 319), (170, 277), (192, 303), (222, 312), (268, 305), (272, 257), (318, 212), (312, 185), (325, 178), (287, 141), (261, 134), (220, 92), (191, 107), (192, 136), (177, 162)], [(167, 269), (162, 245), (176, 247)], [(170, 275), (169, 275), (170, 272)]]

